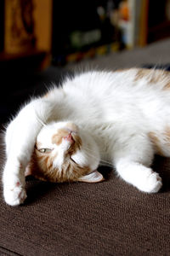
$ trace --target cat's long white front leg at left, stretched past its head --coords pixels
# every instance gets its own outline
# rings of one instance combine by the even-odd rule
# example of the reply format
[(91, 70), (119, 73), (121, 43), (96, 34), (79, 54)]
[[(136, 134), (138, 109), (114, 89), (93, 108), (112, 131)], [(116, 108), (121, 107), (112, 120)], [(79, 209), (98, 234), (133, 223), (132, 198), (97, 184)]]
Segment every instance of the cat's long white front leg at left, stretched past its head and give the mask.
[(26, 199), (25, 170), (31, 159), (37, 134), (50, 115), (51, 105), (37, 99), (22, 108), (8, 125), (5, 143), (7, 160), (3, 168), (3, 196), (8, 205), (20, 205)]

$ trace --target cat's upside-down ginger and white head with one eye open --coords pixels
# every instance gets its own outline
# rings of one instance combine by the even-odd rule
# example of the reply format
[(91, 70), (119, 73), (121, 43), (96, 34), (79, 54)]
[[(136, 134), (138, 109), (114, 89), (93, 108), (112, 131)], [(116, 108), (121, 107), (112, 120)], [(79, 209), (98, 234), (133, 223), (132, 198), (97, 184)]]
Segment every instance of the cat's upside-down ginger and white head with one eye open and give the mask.
[(104, 179), (98, 166), (93, 137), (71, 122), (58, 122), (42, 127), (27, 172), (50, 182), (96, 183)]

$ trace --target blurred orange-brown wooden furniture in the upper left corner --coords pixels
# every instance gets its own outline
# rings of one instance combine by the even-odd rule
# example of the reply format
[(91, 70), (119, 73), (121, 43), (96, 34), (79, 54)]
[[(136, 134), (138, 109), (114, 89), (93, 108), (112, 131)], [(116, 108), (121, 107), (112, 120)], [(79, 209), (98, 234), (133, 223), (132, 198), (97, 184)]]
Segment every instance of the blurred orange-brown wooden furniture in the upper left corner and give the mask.
[(52, 0), (0, 2), (1, 69), (24, 67), (25, 70), (35, 70), (47, 67), (51, 56), (51, 38)]

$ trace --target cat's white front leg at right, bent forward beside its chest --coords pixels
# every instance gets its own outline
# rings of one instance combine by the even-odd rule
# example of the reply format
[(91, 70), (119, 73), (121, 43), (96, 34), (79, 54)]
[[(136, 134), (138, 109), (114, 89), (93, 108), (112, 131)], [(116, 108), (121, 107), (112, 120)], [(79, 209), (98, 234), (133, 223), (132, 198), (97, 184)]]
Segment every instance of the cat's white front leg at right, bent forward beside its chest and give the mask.
[(161, 189), (161, 177), (150, 168), (154, 150), (144, 136), (134, 136), (119, 148), (114, 157), (116, 172), (139, 190), (156, 193)]

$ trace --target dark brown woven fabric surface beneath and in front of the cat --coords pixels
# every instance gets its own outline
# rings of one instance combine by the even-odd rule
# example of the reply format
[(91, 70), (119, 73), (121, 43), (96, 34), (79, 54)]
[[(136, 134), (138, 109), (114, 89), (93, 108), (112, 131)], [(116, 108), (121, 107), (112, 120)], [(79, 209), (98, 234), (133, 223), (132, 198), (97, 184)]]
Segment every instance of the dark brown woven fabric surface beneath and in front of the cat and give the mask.
[(29, 178), (25, 205), (0, 198), (0, 255), (170, 255), (170, 160), (156, 157), (154, 169), (164, 183), (155, 195), (107, 168), (103, 183)]

